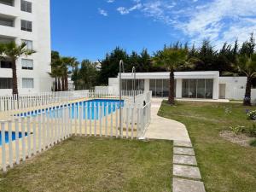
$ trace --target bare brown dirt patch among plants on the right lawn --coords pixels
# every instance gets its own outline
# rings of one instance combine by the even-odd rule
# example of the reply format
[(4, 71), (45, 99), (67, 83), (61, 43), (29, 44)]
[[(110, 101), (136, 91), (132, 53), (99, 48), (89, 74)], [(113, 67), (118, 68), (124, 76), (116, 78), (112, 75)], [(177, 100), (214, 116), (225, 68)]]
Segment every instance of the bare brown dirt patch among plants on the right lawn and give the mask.
[(236, 143), (243, 147), (250, 147), (249, 142), (254, 139), (253, 137), (247, 137), (245, 134), (239, 134), (235, 137), (235, 134), (232, 131), (221, 131), (219, 136), (231, 143)]

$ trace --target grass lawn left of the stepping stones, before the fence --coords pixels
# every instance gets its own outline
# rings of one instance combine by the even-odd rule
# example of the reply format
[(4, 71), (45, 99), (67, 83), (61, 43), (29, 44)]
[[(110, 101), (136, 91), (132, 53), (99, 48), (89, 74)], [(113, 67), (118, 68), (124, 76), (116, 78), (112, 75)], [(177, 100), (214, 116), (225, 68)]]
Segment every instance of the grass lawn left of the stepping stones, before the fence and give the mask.
[(171, 191), (172, 142), (72, 137), (6, 174), (0, 191)]

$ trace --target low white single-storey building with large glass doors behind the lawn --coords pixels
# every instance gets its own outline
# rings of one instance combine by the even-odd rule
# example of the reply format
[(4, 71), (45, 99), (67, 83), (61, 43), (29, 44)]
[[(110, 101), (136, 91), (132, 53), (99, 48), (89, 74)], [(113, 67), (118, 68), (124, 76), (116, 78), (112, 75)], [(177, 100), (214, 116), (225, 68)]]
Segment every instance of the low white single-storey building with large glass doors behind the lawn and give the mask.
[[(137, 73), (136, 90), (152, 90), (153, 96), (169, 95), (170, 73)], [(122, 90), (133, 90), (133, 73), (122, 73)], [(220, 77), (218, 72), (176, 72), (175, 94), (177, 98), (236, 99), (245, 95), (246, 77)], [(108, 89), (119, 91), (119, 77), (108, 79)], [(256, 90), (252, 90), (256, 99)]]

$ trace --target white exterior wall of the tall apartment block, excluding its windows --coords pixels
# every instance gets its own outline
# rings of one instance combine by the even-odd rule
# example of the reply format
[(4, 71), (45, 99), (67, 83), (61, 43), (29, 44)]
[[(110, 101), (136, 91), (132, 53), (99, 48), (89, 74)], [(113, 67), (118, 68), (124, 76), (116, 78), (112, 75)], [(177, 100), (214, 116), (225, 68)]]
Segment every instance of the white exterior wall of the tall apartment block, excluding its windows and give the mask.
[[(23, 56), (24, 59), (33, 60), (33, 70), (21, 69), (21, 58), (16, 61), (18, 89), (21, 94), (38, 93), (51, 90), (52, 79), (50, 72), (50, 12), (49, 0), (28, 0), (32, 2), (32, 13), (20, 10), (20, 0), (15, 0), (15, 7), (0, 3), (0, 14), (15, 18), (15, 27), (0, 26), (2, 38), (13, 38), (16, 44), (21, 39), (32, 40), (33, 49), (37, 53)], [(32, 32), (20, 30), (20, 20), (32, 21)], [(12, 78), (11, 69), (0, 68), (0, 77)], [(33, 89), (22, 88), (22, 78), (34, 79)], [(12, 90), (1, 90), (0, 95), (11, 94)]]

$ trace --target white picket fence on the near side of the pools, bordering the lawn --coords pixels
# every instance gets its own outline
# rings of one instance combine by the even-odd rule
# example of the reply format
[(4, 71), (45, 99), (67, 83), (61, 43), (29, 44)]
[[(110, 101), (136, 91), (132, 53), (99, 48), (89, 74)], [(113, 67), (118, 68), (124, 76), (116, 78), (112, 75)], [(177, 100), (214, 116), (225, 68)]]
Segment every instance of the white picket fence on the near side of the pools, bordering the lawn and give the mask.
[[(20, 160), (26, 161), (73, 135), (139, 139), (151, 120), (151, 96), (150, 91), (136, 96), (135, 102), (125, 99), (121, 106), (118, 100), (62, 102), (3, 120), (0, 167), (6, 172), (8, 167), (19, 165)], [(7, 133), (9, 143), (5, 142)]]

